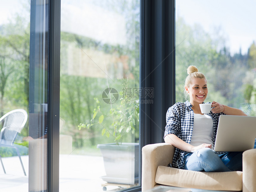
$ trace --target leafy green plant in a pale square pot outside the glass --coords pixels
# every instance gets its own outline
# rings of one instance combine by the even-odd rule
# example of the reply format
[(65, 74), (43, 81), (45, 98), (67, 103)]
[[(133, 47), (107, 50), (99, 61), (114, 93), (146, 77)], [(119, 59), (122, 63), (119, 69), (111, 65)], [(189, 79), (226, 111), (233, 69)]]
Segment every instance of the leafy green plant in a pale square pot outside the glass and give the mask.
[[(104, 160), (106, 176), (101, 177), (108, 183), (134, 185), (138, 182), (139, 143), (125, 143), (124, 137), (135, 133), (135, 127), (139, 122), (139, 102), (131, 102), (124, 95), (115, 105), (110, 104), (109, 114), (103, 114), (100, 101), (94, 98), (97, 107), (93, 110), (90, 123), (80, 123), (79, 129), (100, 126), (102, 136), (113, 138), (113, 142), (98, 144)], [(112, 124), (105, 122), (105, 118), (111, 117)]]

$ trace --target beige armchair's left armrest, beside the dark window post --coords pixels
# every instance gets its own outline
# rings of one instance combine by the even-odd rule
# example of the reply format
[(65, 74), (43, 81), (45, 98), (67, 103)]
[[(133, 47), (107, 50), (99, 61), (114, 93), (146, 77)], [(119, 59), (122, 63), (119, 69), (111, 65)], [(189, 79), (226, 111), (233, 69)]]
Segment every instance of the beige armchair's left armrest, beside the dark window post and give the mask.
[(149, 144), (142, 148), (142, 191), (154, 188), (157, 167), (172, 163), (174, 149), (168, 143)]

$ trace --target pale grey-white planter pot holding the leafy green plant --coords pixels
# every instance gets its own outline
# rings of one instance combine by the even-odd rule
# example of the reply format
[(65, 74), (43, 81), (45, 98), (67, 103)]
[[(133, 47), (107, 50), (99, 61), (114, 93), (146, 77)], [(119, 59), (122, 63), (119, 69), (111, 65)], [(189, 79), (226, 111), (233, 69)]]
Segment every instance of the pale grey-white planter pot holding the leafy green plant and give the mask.
[(134, 185), (139, 178), (139, 143), (99, 144), (108, 183)]

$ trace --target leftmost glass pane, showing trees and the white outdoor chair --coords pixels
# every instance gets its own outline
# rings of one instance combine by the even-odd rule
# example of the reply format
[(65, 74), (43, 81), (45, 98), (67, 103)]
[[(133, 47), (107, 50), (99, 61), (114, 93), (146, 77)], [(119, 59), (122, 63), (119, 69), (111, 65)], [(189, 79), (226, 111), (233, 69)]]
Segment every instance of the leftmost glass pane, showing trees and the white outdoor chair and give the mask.
[(1, 1), (0, 191), (29, 189), (29, 21), (29, 1)]

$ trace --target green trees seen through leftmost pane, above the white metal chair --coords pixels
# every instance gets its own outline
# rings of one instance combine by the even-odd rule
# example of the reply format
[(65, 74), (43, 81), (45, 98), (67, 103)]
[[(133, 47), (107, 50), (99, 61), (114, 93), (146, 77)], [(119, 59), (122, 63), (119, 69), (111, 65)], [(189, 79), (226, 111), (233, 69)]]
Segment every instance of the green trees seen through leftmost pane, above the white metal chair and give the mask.
[[(0, 113), (29, 104), (29, 23), (16, 15), (0, 31)], [(7, 103), (11, 103), (9, 106)], [(28, 135), (28, 127), (23, 129)]]

